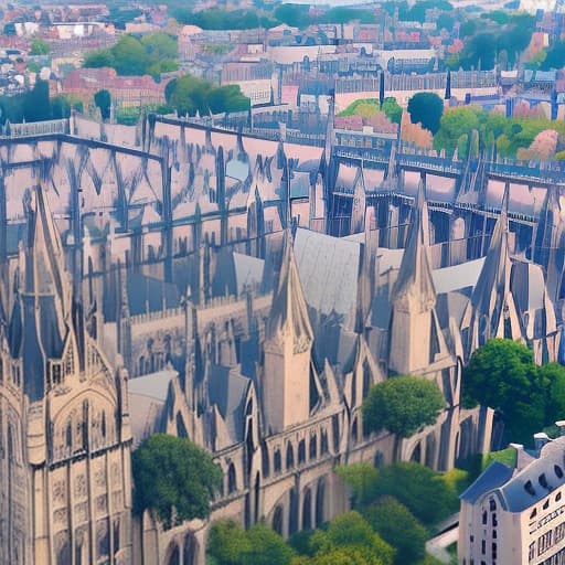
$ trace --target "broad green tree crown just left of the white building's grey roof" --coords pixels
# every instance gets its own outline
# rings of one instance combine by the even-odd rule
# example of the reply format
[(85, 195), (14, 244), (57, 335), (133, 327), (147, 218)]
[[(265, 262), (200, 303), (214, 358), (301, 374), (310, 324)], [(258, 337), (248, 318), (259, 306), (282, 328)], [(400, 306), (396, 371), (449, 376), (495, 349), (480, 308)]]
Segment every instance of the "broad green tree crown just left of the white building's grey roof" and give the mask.
[(426, 526), (433, 526), (459, 508), (457, 493), (440, 473), (415, 462), (397, 462), (381, 469), (375, 495), (394, 497)]

